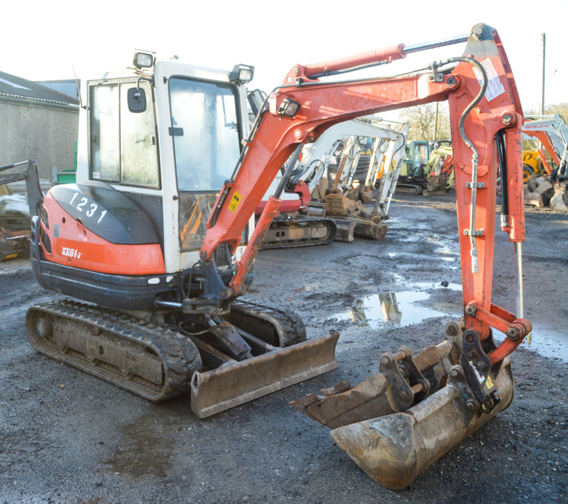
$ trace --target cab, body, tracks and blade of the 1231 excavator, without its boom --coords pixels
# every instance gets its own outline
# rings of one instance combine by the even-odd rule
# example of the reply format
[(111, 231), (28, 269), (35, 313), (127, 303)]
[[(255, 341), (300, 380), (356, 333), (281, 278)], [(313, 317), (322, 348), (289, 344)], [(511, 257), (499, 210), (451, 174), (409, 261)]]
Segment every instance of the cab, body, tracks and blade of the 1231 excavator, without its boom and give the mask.
[[(233, 250), (216, 248), (215, 278), (204, 271), (208, 220), (249, 133), (254, 68), (152, 53), (133, 64), (83, 79), (77, 183), (32, 211), (37, 282), (89, 303), (30, 308), (32, 345), (152, 401), (190, 394), (199, 417), (337, 367), (339, 334), (306, 341), (297, 314), (237, 299), (252, 270), (214, 314), (194, 306), (227, 288), (252, 235), (253, 218)], [(240, 204), (235, 194), (233, 211)]]

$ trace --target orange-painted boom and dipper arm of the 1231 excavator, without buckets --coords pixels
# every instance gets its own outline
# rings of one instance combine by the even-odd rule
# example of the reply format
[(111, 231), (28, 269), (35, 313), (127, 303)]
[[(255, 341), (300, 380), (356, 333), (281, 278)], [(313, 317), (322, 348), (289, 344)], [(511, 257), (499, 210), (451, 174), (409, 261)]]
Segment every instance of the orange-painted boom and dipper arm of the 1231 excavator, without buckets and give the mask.
[[(495, 327), (495, 324), (491, 323), (493, 319), (478, 314), (497, 313), (491, 304), (498, 168), (496, 137), (504, 131), (508, 221), (503, 230), (509, 234), (510, 241), (521, 242), (524, 240), (523, 112), (497, 32), (487, 25), (476, 25), (467, 40), (465, 54), (467, 56), (429, 65), (431, 73), (361, 81), (314, 81), (314, 75), (310, 74), (314, 67), (295, 65), (284, 85), (270, 94), (268, 110), (257, 117), (257, 127), (253, 128), (252, 138), (245, 145), (235, 177), (219, 194), (200, 253), (203, 266), (214, 267), (212, 254), (220, 243), (227, 242), (232, 251), (236, 250), (241, 232), (270, 182), (286, 159), (294, 152), (299, 153), (303, 143), (314, 142), (325, 129), (341, 121), (448, 99), (454, 138), (463, 303), (465, 309), (473, 307), (473, 312), (466, 309), (466, 327), (477, 331), (482, 340), (487, 339), (490, 326)], [(380, 53), (379, 60), (383, 56)], [(438, 67), (453, 62), (457, 62), (457, 66), (451, 72), (438, 71)], [(336, 62), (334, 68), (349, 70), (360, 64), (359, 55)], [(482, 86), (486, 87), (485, 94), (481, 92)], [(297, 111), (287, 117), (283, 109), (290, 103), (296, 104)], [(285, 175), (282, 184), (286, 183), (286, 178)], [(279, 194), (275, 196), (266, 204), (253, 239), (236, 263), (228, 288), (220, 289), (222, 295), (213, 293), (216, 302), (244, 292), (244, 279), (258, 246), (270, 221), (278, 215)], [(214, 312), (215, 306), (210, 308)], [(509, 338), (502, 344), (507, 343), (507, 346), (499, 353), (501, 359), (503, 353), (507, 355), (520, 343), (529, 325), (509, 315), (507, 320), (502, 312), (495, 315), (519, 333), (518, 338)]]

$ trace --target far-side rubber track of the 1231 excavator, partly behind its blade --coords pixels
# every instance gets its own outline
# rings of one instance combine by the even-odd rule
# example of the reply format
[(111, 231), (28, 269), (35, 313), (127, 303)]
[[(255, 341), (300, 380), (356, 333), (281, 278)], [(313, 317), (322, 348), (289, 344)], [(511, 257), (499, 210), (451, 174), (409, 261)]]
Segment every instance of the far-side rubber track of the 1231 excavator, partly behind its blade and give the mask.
[[(236, 312), (254, 312), (254, 316), (272, 324), (277, 322), (276, 330), (281, 336), (281, 347), (287, 347), (306, 341), (306, 326), (302, 318), (295, 312), (268, 306), (262, 303), (254, 303), (248, 300), (238, 300), (233, 303), (232, 310)], [(241, 327), (247, 330), (247, 327)]]

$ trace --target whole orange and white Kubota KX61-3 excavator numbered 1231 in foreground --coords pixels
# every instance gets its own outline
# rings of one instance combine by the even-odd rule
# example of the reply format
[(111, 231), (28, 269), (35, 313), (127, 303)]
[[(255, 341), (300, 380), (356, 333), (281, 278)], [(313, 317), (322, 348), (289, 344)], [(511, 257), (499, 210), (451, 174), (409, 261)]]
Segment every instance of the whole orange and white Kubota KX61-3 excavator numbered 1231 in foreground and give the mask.
[[(411, 74), (320, 80), (465, 41), (465, 56), (425, 65)], [(278, 215), (291, 170), (303, 145), (333, 124), (449, 100), (463, 319), (448, 322), (444, 341), (416, 358), (406, 346), (387, 352), (377, 363), (379, 372), (362, 384), (343, 384), (327, 389), (325, 396), (311, 394), (295, 404), (329, 426), (337, 446), (371, 478), (387, 488), (404, 488), (511, 404), (509, 354), (531, 331), (520, 295), (525, 238), (523, 111), (498, 33), (477, 24), (467, 35), (435, 43), (398, 44), (296, 64), (266, 97), (250, 131), (239, 121), (240, 95), (232, 81), (248, 80), (252, 69), (236, 66), (228, 73), (194, 68), (188, 78), (178, 77), (179, 68), (171, 65), (154, 65), (152, 54), (139, 53), (134, 78), (105, 75), (88, 86), (90, 102), (83, 114), (91, 114), (93, 120), (90, 127), (83, 122), (83, 128), (90, 128), (83, 137), (89, 138), (90, 148), (83, 152), (90, 161), (89, 170), (78, 177), (86, 182), (57, 186), (43, 202), (37, 201), (40, 212), (32, 220), (31, 260), (41, 285), (97, 305), (59, 301), (33, 306), (26, 317), (32, 344), (114, 383), (115, 369), (122, 380), (132, 383), (136, 377), (130, 366), (135, 365), (137, 372), (158, 382), (157, 387), (166, 383), (164, 394), (190, 385), (198, 397), (219, 394), (218, 402), (227, 401), (227, 407), (234, 404), (227, 393), (241, 392), (243, 402), (254, 397), (247, 395), (251, 384), (280, 372), (279, 355), (287, 371), (297, 366), (306, 373), (311, 366), (321, 372), (318, 362), (335, 364), (329, 356), (337, 333), (319, 345), (314, 343), (318, 340), (296, 343), (302, 338), (299, 321), (289, 316), (285, 325), (279, 318), (283, 333), (278, 335), (285, 343), (296, 344), (273, 350), (252, 332), (270, 314), (277, 314), (239, 308), (237, 300), (248, 289), (253, 259)], [(146, 72), (140, 71), (143, 66)], [(158, 104), (159, 97), (169, 103)], [(244, 99), (240, 103), (244, 105)], [(137, 127), (132, 135), (127, 129), (124, 135), (103, 141), (105, 132), (122, 132), (131, 121), (140, 120), (144, 135), (132, 136), (140, 131)], [(204, 156), (207, 152), (214, 155)], [(139, 162), (122, 165), (128, 153), (137, 154)], [(238, 159), (231, 172), (227, 165), (233, 157)], [(277, 191), (247, 234), (262, 196), (289, 158)], [(513, 243), (517, 264), (517, 314), (491, 300), (498, 166), (503, 180), (500, 227)], [(211, 174), (224, 182), (216, 198), (204, 198), (202, 192), (216, 192), (219, 179)], [(181, 238), (180, 228), (198, 201), (210, 208), (206, 229), (193, 239)], [(35, 208), (35, 203), (30, 206)], [(195, 246), (198, 241), (198, 260), (192, 262), (194, 258), (183, 256), (182, 250), (187, 250), (186, 243)], [(503, 341), (494, 340), (494, 329), (506, 334)], [(306, 354), (309, 345), (311, 354)], [(215, 358), (226, 355), (220, 347), (235, 355), (234, 363), (202, 372), (208, 364), (198, 365), (198, 355), (207, 355), (214, 364)], [(108, 362), (107, 351), (114, 362)], [(296, 353), (290, 360), (291, 352)], [(241, 374), (223, 383), (230, 390), (214, 387), (215, 378), (234, 369)], [(105, 373), (111, 372), (115, 374), (109, 378)], [(150, 381), (145, 380), (140, 386)], [(212, 388), (207, 390), (208, 384)], [(262, 392), (286, 384), (286, 376), (281, 376)]]

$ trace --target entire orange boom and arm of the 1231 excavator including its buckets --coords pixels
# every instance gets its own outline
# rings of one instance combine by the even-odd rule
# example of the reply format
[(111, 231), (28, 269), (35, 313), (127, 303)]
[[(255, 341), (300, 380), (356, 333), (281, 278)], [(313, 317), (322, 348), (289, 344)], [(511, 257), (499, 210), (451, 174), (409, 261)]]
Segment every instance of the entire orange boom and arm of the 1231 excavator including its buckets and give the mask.
[[(451, 43), (460, 37), (449, 39)], [(440, 45), (440, 43), (437, 43)], [(444, 41), (441, 45), (445, 45)], [(412, 52), (437, 47), (421, 44)], [(403, 44), (314, 65), (294, 65), (266, 98), (231, 179), (207, 222), (200, 251), (207, 283), (201, 298), (184, 301), (191, 313), (228, 310), (244, 293), (244, 279), (278, 208), (302, 145), (326, 128), (395, 108), (449, 101), (462, 265), (463, 319), (446, 325), (445, 341), (413, 357), (406, 346), (381, 356), (378, 373), (351, 387), (342, 382), (293, 401), (294, 408), (328, 426), (341, 450), (375, 481), (400, 489), (511, 404), (509, 354), (530, 333), (523, 318), (521, 242), (525, 238), (521, 127), (515, 80), (498, 33), (477, 24), (464, 56), (433, 62), (412, 74), (322, 82), (320, 77), (384, 65), (404, 57)], [(454, 65), (454, 66), (448, 66)], [(420, 73), (421, 72), (421, 73)], [(290, 159), (289, 159), (290, 158)], [(274, 196), (254, 229), (232, 279), (216, 279), (217, 247), (235, 251), (270, 182), (289, 159)], [(502, 174), (500, 226), (514, 243), (517, 314), (492, 303), (498, 168)], [(506, 337), (493, 339), (493, 330)]]

